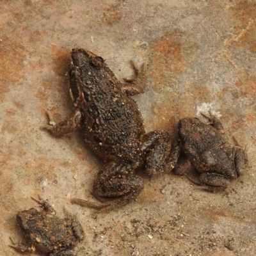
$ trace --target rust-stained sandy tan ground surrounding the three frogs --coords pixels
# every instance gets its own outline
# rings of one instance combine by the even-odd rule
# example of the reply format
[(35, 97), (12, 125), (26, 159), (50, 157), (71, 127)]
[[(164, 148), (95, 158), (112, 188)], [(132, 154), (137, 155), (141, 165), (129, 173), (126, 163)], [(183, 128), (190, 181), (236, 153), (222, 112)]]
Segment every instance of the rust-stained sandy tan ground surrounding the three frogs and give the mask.
[[(49, 199), (61, 218), (76, 214), (86, 233), (77, 255), (256, 255), (255, 97), (256, 3), (228, 1), (53, 1), (0, 3), (0, 255), (22, 240), (17, 211)], [(221, 193), (169, 173), (145, 180), (137, 200), (109, 213), (70, 204), (95, 200), (93, 179), (103, 162), (81, 132), (54, 138), (39, 127), (45, 110), (56, 120), (72, 110), (70, 50), (102, 56), (116, 76), (129, 61), (147, 61), (147, 89), (138, 102), (147, 132), (176, 136), (185, 116), (211, 110), (229, 140), (246, 145), (250, 164)], [(39, 254), (38, 254), (39, 255)]]

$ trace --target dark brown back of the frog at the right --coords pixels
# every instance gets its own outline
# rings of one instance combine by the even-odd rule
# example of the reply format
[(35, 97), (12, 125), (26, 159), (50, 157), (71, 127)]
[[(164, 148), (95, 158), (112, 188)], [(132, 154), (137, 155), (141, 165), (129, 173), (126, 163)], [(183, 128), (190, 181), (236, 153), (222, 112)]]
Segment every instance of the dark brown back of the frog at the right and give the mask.
[(232, 169), (232, 148), (211, 125), (198, 118), (183, 118), (179, 122), (179, 135), (186, 156), (199, 172), (225, 173)]

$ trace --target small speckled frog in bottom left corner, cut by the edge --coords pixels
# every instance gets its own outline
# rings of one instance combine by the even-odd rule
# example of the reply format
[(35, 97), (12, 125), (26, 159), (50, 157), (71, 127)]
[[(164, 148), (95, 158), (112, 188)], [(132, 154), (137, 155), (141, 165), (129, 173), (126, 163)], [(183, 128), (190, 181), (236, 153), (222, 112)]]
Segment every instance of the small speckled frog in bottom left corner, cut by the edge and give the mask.
[(14, 244), (10, 247), (22, 253), (34, 253), (37, 249), (42, 253), (49, 253), (49, 256), (76, 255), (73, 248), (84, 238), (81, 224), (76, 218), (58, 218), (54, 215), (54, 209), (45, 200), (36, 202), (44, 211), (38, 212), (31, 208), (17, 213), (17, 222), (31, 246)]

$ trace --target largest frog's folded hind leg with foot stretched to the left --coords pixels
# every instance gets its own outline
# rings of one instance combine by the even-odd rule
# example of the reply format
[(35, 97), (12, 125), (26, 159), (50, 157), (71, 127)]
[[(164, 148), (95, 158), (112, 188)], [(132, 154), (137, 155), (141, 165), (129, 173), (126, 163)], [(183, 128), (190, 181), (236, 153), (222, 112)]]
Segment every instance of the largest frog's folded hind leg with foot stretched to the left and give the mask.
[(143, 189), (143, 181), (134, 174), (134, 166), (124, 163), (106, 164), (93, 184), (96, 197), (115, 198), (104, 203), (95, 203), (73, 198), (72, 203), (110, 211), (134, 200)]

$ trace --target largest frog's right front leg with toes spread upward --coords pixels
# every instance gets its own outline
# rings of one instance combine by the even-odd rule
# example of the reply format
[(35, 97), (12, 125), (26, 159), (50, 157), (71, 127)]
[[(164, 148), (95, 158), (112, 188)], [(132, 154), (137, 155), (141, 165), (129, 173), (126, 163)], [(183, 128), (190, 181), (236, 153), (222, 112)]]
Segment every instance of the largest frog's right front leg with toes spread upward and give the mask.
[(145, 75), (147, 63), (143, 63), (139, 68), (138, 65), (131, 60), (131, 65), (133, 67), (135, 76), (132, 78), (124, 78), (126, 82), (130, 83), (129, 85), (121, 84), (122, 91), (129, 96), (143, 92), (147, 84), (147, 77)]

